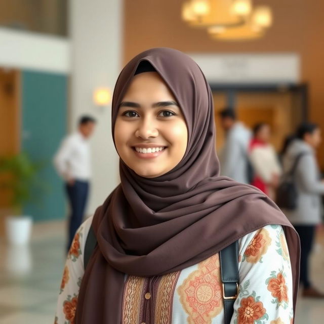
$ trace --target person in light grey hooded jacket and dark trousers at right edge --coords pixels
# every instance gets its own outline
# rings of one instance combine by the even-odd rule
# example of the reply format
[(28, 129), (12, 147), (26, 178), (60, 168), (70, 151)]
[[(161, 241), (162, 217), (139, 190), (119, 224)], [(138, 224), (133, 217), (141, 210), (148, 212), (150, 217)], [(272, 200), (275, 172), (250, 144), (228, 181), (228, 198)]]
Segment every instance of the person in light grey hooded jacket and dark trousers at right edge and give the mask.
[(324, 182), (320, 180), (315, 156), (315, 149), (321, 142), (321, 132), (317, 125), (303, 123), (298, 127), (296, 135), (296, 139), (291, 141), (282, 156), (282, 164), (284, 174), (287, 174), (292, 170), (297, 156), (300, 156), (294, 172), (294, 183), (298, 192), (297, 208), (283, 212), (300, 236), (300, 281), (303, 284), (303, 296), (324, 298), (324, 294), (311, 285), (308, 274), (308, 259), (316, 225), (321, 223), (321, 195), (324, 194)]

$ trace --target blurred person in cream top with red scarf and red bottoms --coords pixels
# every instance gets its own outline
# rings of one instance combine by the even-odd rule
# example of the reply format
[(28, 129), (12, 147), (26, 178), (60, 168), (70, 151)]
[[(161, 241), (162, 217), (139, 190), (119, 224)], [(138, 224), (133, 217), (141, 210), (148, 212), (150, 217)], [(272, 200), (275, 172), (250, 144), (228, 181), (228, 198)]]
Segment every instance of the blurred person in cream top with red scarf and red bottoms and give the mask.
[(250, 161), (254, 170), (252, 185), (259, 188), (271, 199), (275, 198), (281, 167), (277, 154), (270, 144), (271, 129), (266, 123), (259, 123), (253, 128), (250, 142)]

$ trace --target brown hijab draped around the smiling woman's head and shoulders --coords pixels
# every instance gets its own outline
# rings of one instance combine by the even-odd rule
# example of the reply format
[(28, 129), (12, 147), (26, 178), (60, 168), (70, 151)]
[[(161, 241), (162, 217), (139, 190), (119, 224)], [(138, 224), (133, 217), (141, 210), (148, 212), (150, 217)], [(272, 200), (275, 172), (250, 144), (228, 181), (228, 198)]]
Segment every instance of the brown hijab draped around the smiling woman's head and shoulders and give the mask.
[(120, 159), (121, 183), (94, 215), (98, 245), (80, 286), (75, 322), (120, 323), (125, 273), (152, 276), (189, 267), (267, 224), (284, 226), (295, 310), (298, 234), (263, 192), (219, 175), (212, 92), (189, 56), (155, 48), (124, 67), (113, 94), (112, 136), (118, 105), (145, 60), (165, 80), (183, 111), (187, 149), (173, 170), (156, 178), (137, 175)]

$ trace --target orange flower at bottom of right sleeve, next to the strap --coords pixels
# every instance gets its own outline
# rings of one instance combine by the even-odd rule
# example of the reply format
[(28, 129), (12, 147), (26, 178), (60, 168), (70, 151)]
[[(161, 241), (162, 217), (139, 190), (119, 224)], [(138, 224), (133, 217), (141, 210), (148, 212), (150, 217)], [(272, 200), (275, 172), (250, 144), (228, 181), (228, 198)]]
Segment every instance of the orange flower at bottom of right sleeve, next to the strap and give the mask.
[(266, 309), (262, 302), (257, 302), (253, 296), (249, 296), (241, 300), (237, 312), (237, 324), (254, 324), (255, 320), (265, 315)]

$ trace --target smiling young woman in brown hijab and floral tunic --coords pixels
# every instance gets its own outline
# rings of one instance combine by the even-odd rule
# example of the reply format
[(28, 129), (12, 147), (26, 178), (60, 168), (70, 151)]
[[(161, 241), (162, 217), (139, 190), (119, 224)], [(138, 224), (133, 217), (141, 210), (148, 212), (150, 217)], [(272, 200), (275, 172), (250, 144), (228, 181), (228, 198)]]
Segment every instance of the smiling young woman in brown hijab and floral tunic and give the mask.
[[(56, 323), (293, 323), (298, 235), (263, 192), (219, 175), (197, 64), (168, 48), (140, 53), (120, 72), (111, 117), (120, 184), (74, 237)], [(237, 248), (231, 295), (225, 247)]]

